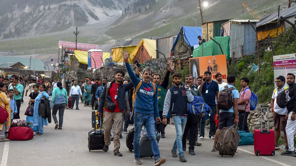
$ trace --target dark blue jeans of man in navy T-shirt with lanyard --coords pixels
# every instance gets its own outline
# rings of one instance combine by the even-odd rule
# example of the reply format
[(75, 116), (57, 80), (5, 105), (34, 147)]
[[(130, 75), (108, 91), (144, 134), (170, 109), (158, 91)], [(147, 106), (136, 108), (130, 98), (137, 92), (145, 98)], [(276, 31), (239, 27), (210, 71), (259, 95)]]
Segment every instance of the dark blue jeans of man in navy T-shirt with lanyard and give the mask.
[[(215, 115), (216, 115), (216, 105), (209, 105), (212, 112), (210, 112), (210, 132), (209, 132), (209, 137), (214, 136), (216, 133), (215, 131)], [(200, 119), (200, 137), (205, 136), (205, 120), (203, 118)]]

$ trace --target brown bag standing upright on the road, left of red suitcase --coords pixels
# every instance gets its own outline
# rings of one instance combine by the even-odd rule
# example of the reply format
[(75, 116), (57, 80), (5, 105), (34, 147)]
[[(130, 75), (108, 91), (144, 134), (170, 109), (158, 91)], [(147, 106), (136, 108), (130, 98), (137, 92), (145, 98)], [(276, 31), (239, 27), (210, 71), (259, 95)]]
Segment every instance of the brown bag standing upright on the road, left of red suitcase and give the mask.
[(221, 156), (228, 155), (233, 157), (237, 151), (237, 147), (239, 146), (239, 133), (234, 126), (236, 126), (236, 124), (230, 127), (224, 127), (220, 130), (216, 147)]

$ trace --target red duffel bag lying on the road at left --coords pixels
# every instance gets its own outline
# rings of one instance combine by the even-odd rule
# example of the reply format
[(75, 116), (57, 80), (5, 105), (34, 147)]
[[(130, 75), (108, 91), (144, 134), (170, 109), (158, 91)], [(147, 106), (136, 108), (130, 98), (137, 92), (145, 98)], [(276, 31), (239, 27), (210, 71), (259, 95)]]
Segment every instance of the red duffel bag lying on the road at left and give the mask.
[(8, 131), (8, 139), (14, 141), (25, 141), (34, 138), (33, 129), (27, 126), (11, 127)]

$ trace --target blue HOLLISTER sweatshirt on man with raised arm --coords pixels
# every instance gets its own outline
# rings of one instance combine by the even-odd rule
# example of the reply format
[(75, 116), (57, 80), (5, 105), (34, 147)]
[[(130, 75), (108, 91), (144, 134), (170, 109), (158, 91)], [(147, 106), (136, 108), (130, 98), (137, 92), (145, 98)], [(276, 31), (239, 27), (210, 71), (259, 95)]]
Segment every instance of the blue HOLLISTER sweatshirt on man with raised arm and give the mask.
[[(126, 69), (128, 71), (128, 75), (131, 77), (131, 81), (136, 89), (137, 85), (140, 82), (140, 79), (136, 77), (131, 69), (131, 66), (128, 62), (126, 62)], [(142, 84), (137, 92), (137, 98), (134, 103), (134, 109), (137, 113), (146, 113), (151, 114), (154, 113), (155, 117), (159, 117), (158, 112), (158, 95), (157, 91), (154, 94), (153, 85), (150, 81), (149, 84), (142, 81)]]

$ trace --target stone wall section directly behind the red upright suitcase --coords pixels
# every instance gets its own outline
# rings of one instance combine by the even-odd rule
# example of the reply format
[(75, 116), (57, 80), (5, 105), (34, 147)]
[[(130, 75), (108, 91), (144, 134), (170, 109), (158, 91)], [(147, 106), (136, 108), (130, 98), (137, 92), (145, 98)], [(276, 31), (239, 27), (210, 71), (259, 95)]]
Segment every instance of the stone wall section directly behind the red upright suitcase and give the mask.
[[(261, 111), (260, 111), (260, 106), (262, 104), (257, 105), (255, 110), (250, 111), (249, 116), (247, 118), (247, 123), (250, 132), (253, 133), (255, 129), (261, 129)], [(270, 104), (268, 104), (268, 119), (267, 119), (267, 113), (266, 113), (266, 108), (262, 110), (262, 126), (263, 129), (267, 129), (267, 121), (269, 122), (269, 129), (274, 129), (274, 120), (273, 120), (273, 113), (271, 110)]]

